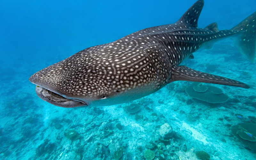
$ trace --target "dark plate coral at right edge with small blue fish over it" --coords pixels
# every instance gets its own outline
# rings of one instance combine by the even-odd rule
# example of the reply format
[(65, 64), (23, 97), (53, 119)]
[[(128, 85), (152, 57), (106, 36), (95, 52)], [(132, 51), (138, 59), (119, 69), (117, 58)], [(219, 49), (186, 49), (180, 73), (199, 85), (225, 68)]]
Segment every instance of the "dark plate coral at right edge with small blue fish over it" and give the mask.
[(231, 132), (244, 144), (244, 147), (256, 151), (256, 124), (239, 123), (231, 126)]

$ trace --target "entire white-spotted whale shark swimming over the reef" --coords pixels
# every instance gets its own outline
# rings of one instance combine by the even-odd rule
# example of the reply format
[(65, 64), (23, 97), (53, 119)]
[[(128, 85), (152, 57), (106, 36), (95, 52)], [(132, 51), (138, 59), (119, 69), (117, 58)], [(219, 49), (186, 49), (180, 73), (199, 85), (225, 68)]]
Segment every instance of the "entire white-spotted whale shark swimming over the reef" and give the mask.
[(197, 28), (204, 6), (196, 1), (173, 24), (142, 29), (114, 42), (84, 49), (33, 74), (36, 94), (60, 107), (109, 106), (158, 91), (174, 81), (193, 81), (242, 88), (249, 85), (200, 72), (180, 63), (193, 52), (231, 37), (250, 62), (255, 60), (256, 12), (228, 30), (217, 23)]

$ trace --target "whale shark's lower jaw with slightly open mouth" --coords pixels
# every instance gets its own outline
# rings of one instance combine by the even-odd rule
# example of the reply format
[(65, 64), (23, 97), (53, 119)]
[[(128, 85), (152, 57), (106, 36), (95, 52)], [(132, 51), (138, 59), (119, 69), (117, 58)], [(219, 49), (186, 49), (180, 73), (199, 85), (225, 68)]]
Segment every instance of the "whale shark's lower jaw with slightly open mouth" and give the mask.
[(67, 99), (55, 92), (47, 90), (38, 85), (36, 85), (36, 94), (42, 100), (59, 107), (75, 108), (75, 107), (88, 106), (88, 104), (85, 103), (84, 101)]

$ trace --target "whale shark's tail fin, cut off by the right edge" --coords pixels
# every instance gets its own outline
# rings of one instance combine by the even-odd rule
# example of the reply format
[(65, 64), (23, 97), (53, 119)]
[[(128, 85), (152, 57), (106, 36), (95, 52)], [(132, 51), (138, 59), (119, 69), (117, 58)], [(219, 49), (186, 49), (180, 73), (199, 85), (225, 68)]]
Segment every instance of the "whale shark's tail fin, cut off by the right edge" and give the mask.
[(234, 42), (246, 59), (253, 63), (256, 57), (256, 12), (230, 30), (242, 32)]

